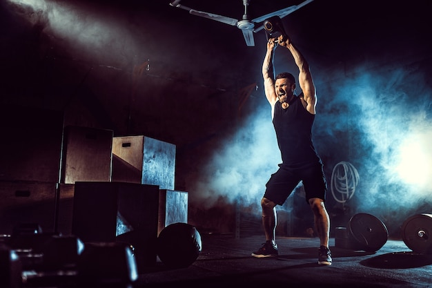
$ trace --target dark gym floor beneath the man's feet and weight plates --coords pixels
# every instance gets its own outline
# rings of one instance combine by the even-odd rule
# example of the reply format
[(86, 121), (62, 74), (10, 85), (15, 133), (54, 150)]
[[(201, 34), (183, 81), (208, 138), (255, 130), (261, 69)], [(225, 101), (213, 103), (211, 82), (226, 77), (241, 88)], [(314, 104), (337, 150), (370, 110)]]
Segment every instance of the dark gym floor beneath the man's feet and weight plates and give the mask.
[(335, 247), (333, 265), (317, 265), (317, 238), (278, 238), (278, 258), (253, 258), (263, 236), (235, 239), (204, 235), (190, 267), (141, 273), (136, 287), (432, 287), (432, 255), (414, 253), (402, 240), (387, 240), (376, 252)]

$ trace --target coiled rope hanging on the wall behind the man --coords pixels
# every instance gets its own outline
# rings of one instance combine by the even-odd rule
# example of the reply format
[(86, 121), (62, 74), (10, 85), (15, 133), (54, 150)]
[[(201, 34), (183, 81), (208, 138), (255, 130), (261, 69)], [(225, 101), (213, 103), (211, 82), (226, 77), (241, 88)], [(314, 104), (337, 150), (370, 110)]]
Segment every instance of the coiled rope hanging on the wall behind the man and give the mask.
[(331, 174), (331, 193), (337, 202), (345, 203), (350, 200), (360, 181), (360, 175), (353, 164), (339, 162), (333, 167)]

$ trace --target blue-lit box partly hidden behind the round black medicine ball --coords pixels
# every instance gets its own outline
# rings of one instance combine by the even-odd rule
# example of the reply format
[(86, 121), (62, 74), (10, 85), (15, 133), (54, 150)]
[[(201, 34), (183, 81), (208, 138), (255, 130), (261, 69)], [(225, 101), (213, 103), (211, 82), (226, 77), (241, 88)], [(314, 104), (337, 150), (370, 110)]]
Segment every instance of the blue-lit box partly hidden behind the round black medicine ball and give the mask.
[(177, 222), (188, 223), (188, 193), (160, 189), (157, 234), (169, 224)]

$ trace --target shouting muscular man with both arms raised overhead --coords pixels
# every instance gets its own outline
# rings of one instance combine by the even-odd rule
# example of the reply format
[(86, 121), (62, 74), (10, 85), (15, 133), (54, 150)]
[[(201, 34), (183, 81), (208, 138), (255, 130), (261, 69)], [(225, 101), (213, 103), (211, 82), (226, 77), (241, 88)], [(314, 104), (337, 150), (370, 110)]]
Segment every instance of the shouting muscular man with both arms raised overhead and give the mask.
[[(312, 126), (315, 120), (317, 95), (308, 62), (291, 39), (285, 35), (269, 39), (262, 66), (264, 93), (271, 105), (273, 126), (282, 164), (266, 184), (261, 200), (262, 224), (266, 243), (252, 253), (257, 258), (277, 256), (275, 231), (277, 225), (276, 205), (282, 205), (302, 181), (306, 202), (311, 207), (315, 229), (320, 238), (318, 264), (331, 265), (328, 249), (330, 219), (324, 202), (326, 199), (326, 177), (320, 156), (312, 141)], [(299, 69), (298, 81), (302, 93), (295, 94), (295, 77), (291, 73), (273, 72), (273, 55), (277, 45), (287, 48)]]

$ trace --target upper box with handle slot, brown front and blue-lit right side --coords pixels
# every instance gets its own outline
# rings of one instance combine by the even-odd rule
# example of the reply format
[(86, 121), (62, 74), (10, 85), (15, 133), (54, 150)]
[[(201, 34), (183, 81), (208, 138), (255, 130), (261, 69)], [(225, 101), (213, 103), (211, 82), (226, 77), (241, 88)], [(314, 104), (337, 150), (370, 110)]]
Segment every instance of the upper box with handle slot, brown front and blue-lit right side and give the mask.
[(112, 139), (112, 181), (174, 190), (175, 144), (146, 136)]

